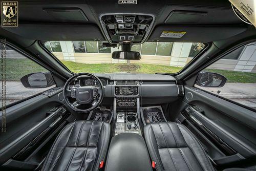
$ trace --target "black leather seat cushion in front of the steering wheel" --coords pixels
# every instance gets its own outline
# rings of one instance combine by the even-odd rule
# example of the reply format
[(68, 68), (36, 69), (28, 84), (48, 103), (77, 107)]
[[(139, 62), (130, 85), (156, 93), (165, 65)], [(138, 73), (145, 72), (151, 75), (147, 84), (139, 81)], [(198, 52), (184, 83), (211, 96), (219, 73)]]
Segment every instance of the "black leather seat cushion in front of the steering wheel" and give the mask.
[(76, 121), (55, 140), (42, 170), (98, 170), (110, 140), (110, 124)]

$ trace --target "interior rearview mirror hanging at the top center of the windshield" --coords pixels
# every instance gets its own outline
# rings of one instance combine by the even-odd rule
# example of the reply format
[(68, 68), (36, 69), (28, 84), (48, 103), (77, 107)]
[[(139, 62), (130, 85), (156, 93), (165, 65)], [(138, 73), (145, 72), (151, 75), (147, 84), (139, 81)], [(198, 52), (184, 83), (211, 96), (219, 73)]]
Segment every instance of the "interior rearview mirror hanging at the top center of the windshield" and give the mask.
[(140, 60), (140, 53), (133, 51), (115, 51), (112, 53), (113, 59)]

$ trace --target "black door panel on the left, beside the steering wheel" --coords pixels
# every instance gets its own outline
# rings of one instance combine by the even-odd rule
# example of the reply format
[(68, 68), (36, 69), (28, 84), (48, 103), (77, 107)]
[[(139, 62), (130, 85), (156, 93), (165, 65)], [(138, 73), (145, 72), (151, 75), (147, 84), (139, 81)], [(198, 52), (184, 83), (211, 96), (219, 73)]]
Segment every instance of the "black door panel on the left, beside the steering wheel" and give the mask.
[(53, 92), (51, 96), (40, 94), (6, 109), (7, 132), (0, 136), (2, 168), (35, 169), (45, 157), (52, 141), (70, 116), (67, 110), (61, 112), (65, 107), (58, 100), (60, 91)]

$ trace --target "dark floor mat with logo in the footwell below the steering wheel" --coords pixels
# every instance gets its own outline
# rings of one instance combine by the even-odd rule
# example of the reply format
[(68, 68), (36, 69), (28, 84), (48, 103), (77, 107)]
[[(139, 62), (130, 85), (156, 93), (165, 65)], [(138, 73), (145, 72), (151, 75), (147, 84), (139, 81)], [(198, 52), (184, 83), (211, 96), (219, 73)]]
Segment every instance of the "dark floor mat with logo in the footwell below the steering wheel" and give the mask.
[(87, 120), (104, 121), (110, 123), (112, 120), (112, 112), (109, 109), (96, 108), (91, 111)]

